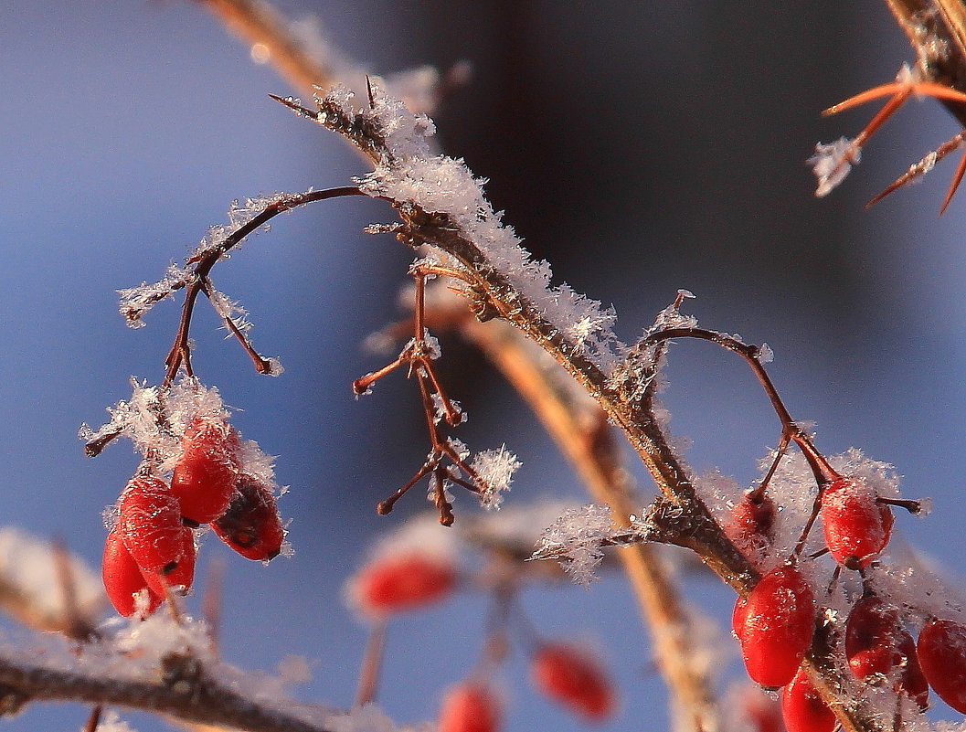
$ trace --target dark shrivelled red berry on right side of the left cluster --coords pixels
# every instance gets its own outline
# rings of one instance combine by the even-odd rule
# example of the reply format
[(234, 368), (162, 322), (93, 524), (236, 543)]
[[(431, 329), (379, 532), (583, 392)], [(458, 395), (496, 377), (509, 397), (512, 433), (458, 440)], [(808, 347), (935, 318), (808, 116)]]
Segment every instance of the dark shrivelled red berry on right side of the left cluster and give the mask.
[(285, 529), (270, 488), (242, 473), (228, 509), (212, 523), (215, 535), (241, 556), (268, 562), (282, 550)]

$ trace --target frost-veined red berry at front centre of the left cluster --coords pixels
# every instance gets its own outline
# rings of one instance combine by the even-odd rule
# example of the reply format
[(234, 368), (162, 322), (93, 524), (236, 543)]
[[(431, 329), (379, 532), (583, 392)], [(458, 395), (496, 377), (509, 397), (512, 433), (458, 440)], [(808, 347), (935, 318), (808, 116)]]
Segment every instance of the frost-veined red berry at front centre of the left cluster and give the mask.
[(171, 572), (185, 551), (178, 499), (164, 481), (135, 476), (121, 493), (117, 529), (142, 572)]

